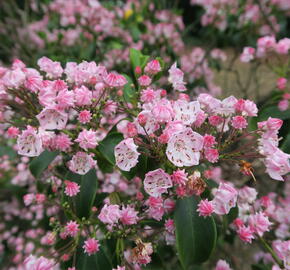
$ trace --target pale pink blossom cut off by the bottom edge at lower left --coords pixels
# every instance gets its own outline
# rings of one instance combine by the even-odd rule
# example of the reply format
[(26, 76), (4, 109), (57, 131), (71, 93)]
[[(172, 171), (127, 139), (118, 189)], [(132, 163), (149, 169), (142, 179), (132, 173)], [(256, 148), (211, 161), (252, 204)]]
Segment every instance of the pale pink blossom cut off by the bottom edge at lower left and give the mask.
[[(24, 260), (23, 270), (56, 270), (55, 262), (43, 256), (37, 258), (30, 255)], [(22, 269), (22, 268), (21, 268)]]

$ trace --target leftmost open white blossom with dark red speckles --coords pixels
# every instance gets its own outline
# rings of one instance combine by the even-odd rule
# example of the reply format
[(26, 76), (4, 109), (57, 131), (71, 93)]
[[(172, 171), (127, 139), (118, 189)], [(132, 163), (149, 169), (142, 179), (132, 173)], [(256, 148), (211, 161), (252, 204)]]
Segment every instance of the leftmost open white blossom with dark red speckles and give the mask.
[(43, 151), (40, 135), (30, 126), (18, 136), (17, 147), (19, 155), (28, 157), (37, 157)]

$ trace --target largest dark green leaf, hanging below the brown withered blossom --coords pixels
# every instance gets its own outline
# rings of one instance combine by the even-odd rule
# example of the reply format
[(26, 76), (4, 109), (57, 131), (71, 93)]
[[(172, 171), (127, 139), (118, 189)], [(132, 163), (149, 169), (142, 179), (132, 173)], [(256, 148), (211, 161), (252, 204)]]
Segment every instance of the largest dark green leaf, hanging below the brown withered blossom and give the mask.
[(174, 221), (178, 257), (183, 269), (208, 260), (216, 245), (216, 225), (212, 217), (200, 217), (197, 197), (179, 199)]

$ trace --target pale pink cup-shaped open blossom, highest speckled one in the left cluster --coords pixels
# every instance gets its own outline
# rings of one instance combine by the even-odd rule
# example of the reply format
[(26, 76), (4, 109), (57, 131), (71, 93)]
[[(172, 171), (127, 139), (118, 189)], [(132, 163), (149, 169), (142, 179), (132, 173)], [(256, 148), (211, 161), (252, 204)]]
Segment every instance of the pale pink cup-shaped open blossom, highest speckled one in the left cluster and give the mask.
[(64, 129), (68, 115), (63, 111), (44, 108), (36, 118), (43, 129)]

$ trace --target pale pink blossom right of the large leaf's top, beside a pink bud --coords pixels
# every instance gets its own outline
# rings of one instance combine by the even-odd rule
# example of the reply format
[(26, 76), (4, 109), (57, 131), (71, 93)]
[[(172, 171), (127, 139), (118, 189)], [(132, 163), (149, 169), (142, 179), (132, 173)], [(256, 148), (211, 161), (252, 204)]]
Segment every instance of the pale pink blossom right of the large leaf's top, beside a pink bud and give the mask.
[(226, 215), (230, 209), (236, 205), (238, 192), (234, 187), (227, 183), (220, 183), (214, 194), (212, 203), (214, 212), (218, 215)]

